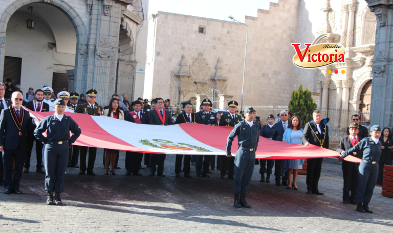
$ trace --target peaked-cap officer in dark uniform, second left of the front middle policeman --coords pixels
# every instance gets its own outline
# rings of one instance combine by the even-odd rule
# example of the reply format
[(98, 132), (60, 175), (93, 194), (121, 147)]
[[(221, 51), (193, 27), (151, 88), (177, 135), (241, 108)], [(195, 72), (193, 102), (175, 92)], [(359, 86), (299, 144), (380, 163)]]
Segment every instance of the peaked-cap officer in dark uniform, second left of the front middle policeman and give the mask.
[[(195, 115), (199, 119), (198, 122), (199, 124), (218, 125), (217, 119), (215, 118), (215, 114), (210, 112), (210, 106), (212, 106), (212, 103), (209, 99), (204, 99), (202, 101), (203, 110), (195, 113)], [(203, 165), (202, 165), (203, 157), (205, 157), (205, 159), (203, 160)], [(207, 178), (210, 177), (207, 173), (209, 172), (211, 157), (212, 157), (211, 155), (197, 155), (197, 158), (195, 159), (195, 170), (197, 170), (198, 177), (207, 177)]]

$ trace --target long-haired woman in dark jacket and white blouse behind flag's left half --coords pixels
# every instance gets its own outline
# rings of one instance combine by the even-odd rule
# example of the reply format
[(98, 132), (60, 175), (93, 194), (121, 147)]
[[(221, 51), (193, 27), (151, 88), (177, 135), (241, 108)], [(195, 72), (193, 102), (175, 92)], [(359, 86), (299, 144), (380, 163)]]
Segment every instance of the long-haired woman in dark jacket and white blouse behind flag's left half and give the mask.
[[(124, 112), (119, 108), (119, 100), (116, 98), (112, 98), (109, 102), (109, 108), (104, 110), (105, 117), (115, 118), (124, 120)], [(116, 155), (117, 150), (105, 149), (105, 173), (104, 175), (109, 175), (109, 160), (111, 159), (111, 174), (116, 175), (115, 173), (115, 164), (116, 164)]]

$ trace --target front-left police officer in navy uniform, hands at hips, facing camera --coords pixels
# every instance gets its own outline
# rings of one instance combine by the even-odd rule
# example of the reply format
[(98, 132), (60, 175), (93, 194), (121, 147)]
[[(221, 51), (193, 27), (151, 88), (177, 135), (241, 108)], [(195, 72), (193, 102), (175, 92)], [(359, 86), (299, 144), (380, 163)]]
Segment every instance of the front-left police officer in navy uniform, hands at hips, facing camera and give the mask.
[[(64, 100), (56, 100), (55, 113), (44, 118), (34, 130), (34, 136), (46, 145), (45, 191), (48, 193), (48, 205), (53, 205), (53, 191), (56, 192), (55, 204), (62, 204), (60, 193), (64, 191), (63, 178), (67, 169), (69, 146), (75, 143), (81, 133), (78, 124), (71, 117), (64, 115), (64, 110)], [(46, 137), (42, 134), (45, 131)]]

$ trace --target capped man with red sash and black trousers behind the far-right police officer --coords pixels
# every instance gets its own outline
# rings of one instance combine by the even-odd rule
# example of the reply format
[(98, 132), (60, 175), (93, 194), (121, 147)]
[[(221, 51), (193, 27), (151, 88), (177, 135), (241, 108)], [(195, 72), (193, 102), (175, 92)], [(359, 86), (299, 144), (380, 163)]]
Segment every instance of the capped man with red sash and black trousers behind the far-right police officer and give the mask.
[[(343, 154), (345, 151), (351, 149), (358, 144), (361, 137), (358, 136), (359, 124), (352, 122), (350, 125), (350, 135), (341, 137), (340, 145), (338, 145), (337, 152)], [(358, 150), (350, 153), (357, 158), (363, 157), (363, 151)], [(357, 204), (356, 202), (356, 190), (358, 188), (358, 173), (359, 164), (356, 162), (350, 162), (342, 160), (342, 175), (344, 178), (344, 189), (342, 192), (342, 203), (343, 204)], [(351, 192), (351, 194), (350, 194)]]

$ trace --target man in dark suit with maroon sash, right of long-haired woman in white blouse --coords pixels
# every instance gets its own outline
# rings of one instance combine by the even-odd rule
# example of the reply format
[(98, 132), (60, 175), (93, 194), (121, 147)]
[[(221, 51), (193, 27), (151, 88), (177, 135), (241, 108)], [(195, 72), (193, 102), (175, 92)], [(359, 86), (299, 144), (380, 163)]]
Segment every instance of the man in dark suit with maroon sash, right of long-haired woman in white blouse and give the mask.
[[(139, 100), (134, 101), (134, 111), (127, 112), (125, 114), (126, 121), (137, 123), (137, 124), (147, 124), (147, 117), (145, 113), (141, 112), (142, 103)], [(125, 152), (125, 169), (127, 172), (126, 176), (133, 174), (134, 176), (141, 176), (139, 169), (141, 168), (143, 153), (126, 151)]]

